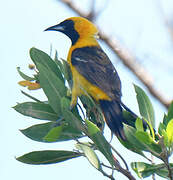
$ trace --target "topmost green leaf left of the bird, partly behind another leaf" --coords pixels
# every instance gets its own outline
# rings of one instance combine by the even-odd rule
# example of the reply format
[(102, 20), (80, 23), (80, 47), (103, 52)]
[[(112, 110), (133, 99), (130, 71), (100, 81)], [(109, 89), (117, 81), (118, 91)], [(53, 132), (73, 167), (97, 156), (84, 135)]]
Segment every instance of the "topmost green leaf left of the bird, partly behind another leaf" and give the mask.
[(30, 49), (30, 56), (36, 67), (38, 63), (41, 64), (47, 71), (55, 73), (55, 75), (64, 82), (60, 69), (48, 54), (33, 47)]

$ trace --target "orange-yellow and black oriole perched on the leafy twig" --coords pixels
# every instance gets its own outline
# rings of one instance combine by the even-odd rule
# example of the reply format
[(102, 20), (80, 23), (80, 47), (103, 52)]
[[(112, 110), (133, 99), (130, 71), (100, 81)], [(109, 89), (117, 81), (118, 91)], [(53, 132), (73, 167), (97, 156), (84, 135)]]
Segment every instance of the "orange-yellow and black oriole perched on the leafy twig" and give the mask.
[(78, 96), (87, 92), (99, 103), (111, 131), (125, 140), (121, 81), (97, 42), (96, 26), (85, 18), (71, 17), (45, 31), (59, 31), (71, 39), (67, 58), (73, 77), (71, 106), (76, 104)]

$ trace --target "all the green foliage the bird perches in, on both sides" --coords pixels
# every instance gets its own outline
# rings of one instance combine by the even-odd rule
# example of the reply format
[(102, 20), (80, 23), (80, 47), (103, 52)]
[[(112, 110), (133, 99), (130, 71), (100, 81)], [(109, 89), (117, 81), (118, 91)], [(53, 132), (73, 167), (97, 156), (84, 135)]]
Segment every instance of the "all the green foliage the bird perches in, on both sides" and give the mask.
[[(18, 157), (17, 160), (38, 165), (59, 163), (84, 156), (92, 166), (110, 179), (113, 179), (114, 170), (133, 179), (126, 163), (126, 169), (123, 169), (121, 163), (114, 156), (113, 152), (116, 151), (103, 135), (105, 124), (98, 104), (89, 95), (81, 96), (80, 103), (72, 110), (70, 109), (73, 82), (67, 62), (59, 60), (57, 53), (52, 59), (48, 54), (36, 48), (31, 48), (30, 57), (35, 64), (36, 74), (29, 77), (20, 68), (17, 70), (25, 80), (24, 86), (27, 82), (28, 89), (42, 88), (47, 99), (41, 101), (22, 91), (31, 101), (19, 103), (14, 109), (24, 116), (46, 122), (33, 125), (21, 132), (34, 141), (52, 143), (75, 140), (76, 145), (73, 151), (34, 151)], [(157, 174), (171, 179), (173, 164), (169, 163), (169, 157), (173, 152), (173, 103), (157, 131), (154, 109), (148, 96), (140, 87), (134, 85), (134, 88), (141, 117), (134, 118), (131, 113), (124, 110), (123, 116), (126, 119), (124, 131), (127, 140), (119, 139), (119, 141), (128, 150), (148, 160), (149, 163), (131, 163), (131, 167), (138, 177), (145, 178)], [(83, 137), (88, 137), (89, 140), (83, 141)], [(98, 152), (102, 153), (109, 165), (103, 163)], [(163, 163), (154, 164), (145, 155), (145, 152), (151, 153), (153, 157), (162, 160)], [(108, 175), (103, 167), (112, 169), (112, 174)]]

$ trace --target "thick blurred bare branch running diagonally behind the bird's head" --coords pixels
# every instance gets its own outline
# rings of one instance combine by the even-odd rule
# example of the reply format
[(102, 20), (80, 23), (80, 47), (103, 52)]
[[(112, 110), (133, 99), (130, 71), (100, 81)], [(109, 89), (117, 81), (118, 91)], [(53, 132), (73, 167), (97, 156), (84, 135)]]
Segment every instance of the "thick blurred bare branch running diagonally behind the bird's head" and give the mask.
[[(66, 4), (67, 7), (73, 10), (79, 16), (89, 20), (94, 19), (94, 17), (91, 17), (91, 12), (89, 14), (82, 12), (77, 6), (73, 4), (71, 0), (60, 0), (60, 2)], [(115, 55), (119, 57), (122, 63), (147, 87), (149, 92), (162, 105), (168, 108), (171, 102), (153, 86), (154, 83), (152, 81), (151, 75), (149, 75), (147, 70), (137, 62), (135, 56), (128, 49), (122, 47), (117, 40), (112, 38), (110, 39), (109, 36), (103, 33), (101, 29), (99, 29), (99, 32), (100, 39), (102, 39), (107, 44), (107, 46), (115, 53)]]

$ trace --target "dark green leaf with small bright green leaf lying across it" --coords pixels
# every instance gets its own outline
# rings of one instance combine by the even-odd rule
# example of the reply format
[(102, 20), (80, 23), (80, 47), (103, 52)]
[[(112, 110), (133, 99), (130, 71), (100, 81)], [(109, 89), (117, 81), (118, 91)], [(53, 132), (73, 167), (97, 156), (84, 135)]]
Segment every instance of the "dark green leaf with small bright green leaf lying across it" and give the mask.
[[(62, 131), (60, 131), (61, 129)], [(20, 131), (28, 138), (44, 143), (61, 142), (83, 137), (81, 132), (67, 123), (62, 123), (59, 126), (57, 126), (56, 122), (37, 124)]]

